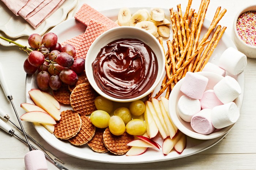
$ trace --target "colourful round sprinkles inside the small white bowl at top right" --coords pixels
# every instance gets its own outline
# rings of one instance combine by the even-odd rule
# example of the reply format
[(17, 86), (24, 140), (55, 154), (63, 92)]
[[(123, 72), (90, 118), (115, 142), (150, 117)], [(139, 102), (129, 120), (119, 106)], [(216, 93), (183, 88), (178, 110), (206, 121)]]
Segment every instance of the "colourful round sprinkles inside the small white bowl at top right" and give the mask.
[(256, 11), (242, 13), (236, 25), (240, 38), (246, 44), (256, 46)]

